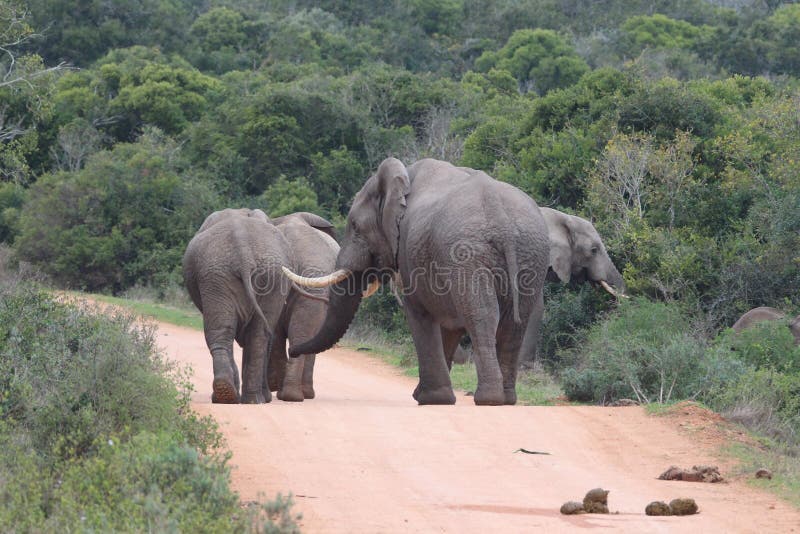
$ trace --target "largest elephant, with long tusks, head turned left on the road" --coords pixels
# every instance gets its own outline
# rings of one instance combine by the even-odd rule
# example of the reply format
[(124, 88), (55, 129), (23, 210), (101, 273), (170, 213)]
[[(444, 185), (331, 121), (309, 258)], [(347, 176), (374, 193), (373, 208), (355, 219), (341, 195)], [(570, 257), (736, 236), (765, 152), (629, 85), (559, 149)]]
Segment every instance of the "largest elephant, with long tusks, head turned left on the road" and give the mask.
[(479, 171), (423, 159), (385, 159), (356, 194), (336, 270), (296, 283), (330, 286), (314, 338), (290, 356), (318, 353), (347, 331), (367, 284), (393, 280), (419, 362), (413, 398), (454, 404), (449, 364), (469, 333), (477, 405), (515, 404), (517, 364), (547, 271), (547, 226), (519, 189)]

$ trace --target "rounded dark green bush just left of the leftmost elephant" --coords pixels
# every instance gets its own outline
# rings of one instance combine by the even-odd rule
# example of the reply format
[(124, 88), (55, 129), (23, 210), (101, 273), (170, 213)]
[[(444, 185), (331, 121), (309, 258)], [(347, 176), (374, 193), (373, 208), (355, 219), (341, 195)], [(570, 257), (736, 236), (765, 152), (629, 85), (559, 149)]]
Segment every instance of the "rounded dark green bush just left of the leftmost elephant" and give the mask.
[(20, 258), (90, 290), (164, 283), (219, 205), (180, 167), (175, 143), (148, 129), (136, 143), (89, 157), (79, 171), (41, 177), (21, 210)]

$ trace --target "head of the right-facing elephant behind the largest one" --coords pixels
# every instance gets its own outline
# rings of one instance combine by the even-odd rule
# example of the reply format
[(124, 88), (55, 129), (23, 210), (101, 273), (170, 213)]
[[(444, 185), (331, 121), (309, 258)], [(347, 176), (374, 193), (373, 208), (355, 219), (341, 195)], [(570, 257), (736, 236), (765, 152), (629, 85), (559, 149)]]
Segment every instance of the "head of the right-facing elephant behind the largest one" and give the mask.
[(596, 282), (618, 296), (625, 291), (622, 275), (608, 257), (592, 223), (550, 208), (540, 208), (550, 236), (550, 269), (566, 283), (573, 277)]

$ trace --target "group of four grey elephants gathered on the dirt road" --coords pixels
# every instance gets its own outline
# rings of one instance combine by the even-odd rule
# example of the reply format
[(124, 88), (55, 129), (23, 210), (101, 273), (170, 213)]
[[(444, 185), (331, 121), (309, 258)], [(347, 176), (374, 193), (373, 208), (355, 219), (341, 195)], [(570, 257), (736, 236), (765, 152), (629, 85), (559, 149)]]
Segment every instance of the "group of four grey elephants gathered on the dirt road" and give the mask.
[(345, 334), (364, 297), (389, 284), (416, 348), (419, 404), (455, 403), (449, 372), (465, 334), (475, 404), (514, 404), (520, 357), (536, 351), (545, 278), (624, 291), (590, 222), (444, 161), (384, 160), (356, 194), (341, 246), (334, 237), (311, 213), (270, 219), (226, 209), (200, 227), (183, 269), (203, 314), (213, 402), (269, 402), (272, 391), (313, 398), (315, 355)]

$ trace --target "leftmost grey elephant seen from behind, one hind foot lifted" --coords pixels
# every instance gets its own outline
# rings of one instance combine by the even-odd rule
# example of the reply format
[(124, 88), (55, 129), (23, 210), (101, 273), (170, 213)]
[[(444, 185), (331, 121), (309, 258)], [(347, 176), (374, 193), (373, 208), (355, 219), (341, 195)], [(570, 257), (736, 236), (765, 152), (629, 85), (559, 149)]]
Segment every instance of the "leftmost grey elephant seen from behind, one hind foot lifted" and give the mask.
[[(289, 283), (289, 244), (264, 212), (226, 209), (208, 216), (183, 256), (186, 288), (203, 313), (214, 366), (212, 401), (263, 403), (271, 329), (278, 324)], [(233, 340), (242, 346), (242, 391)]]

